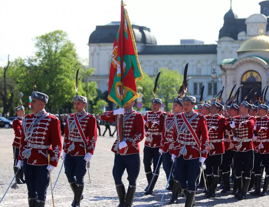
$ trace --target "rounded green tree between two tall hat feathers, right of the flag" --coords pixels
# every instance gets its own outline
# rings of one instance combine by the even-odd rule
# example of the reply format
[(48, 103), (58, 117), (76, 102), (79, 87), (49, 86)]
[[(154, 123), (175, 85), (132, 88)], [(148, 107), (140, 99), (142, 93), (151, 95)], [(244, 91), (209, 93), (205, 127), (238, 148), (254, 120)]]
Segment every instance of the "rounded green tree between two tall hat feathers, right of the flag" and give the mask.
[(160, 71), (156, 97), (161, 97), (165, 111), (170, 111), (171, 108), (168, 103), (172, 102), (177, 96), (177, 91), (182, 85), (183, 75), (180, 75), (178, 70), (169, 70), (168, 68), (161, 68)]

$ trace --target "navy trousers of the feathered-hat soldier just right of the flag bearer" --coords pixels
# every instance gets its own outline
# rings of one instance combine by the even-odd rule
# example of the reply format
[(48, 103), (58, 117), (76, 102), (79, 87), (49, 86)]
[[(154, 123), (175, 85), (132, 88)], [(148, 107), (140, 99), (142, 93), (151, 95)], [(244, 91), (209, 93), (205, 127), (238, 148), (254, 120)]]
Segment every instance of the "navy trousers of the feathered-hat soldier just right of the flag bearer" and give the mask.
[(150, 173), (151, 171), (151, 160), (153, 159), (153, 173), (155, 172), (156, 168), (156, 175), (160, 174), (160, 167), (162, 164), (163, 156), (161, 155), (160, 162), (157, 166), (160, 154), (159, 154), (159, 147), (148, 147), (144, 146), (144, 158), (143, 158), (143, 163), (144, 163), (144, 169), (145, 173)]

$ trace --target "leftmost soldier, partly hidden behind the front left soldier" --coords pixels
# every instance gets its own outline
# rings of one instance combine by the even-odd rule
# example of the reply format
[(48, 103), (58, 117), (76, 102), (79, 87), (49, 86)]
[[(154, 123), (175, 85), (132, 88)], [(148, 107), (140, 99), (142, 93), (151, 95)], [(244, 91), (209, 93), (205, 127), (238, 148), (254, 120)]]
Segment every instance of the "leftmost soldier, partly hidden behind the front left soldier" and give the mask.
[[(14, 158), (14, 164), (13, 164), (13, 170), (14, 173), (16, 174), (18, 168), (17, 168), (17, 164), (18, 164), (18, 156), (19, 156), (19, 152), (20, 152), (20, 138), (21, 138), (21, 131), (22, 131), (22, 119), (23, 116), (25, 115), (24, 112), (24, 107), (23, 105), (18, 106), (16, 108), (14, 108), (15, 113), (17, 114), (17, 118), (15, 118), (13, 120), (12, 123), (12, 127), (14, 130), (14, 134), (15, 134), (15, 138), (13, 141), (13, 158)], [(23, 169), (21, 168), (19, 170), (19, 172), (17, 173), (16, 177), (15, 177), (17, 184), (24, 184), (25, 180), (23, 179)]]

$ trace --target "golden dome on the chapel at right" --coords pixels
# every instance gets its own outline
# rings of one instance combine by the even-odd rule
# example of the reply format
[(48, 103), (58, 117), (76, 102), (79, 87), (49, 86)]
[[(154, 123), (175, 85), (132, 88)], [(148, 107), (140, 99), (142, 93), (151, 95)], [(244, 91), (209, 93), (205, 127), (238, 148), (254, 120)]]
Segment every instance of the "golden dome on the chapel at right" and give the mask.
[(269, 51), (269, 37), (258, 35), (247, 39), (237, 52)]

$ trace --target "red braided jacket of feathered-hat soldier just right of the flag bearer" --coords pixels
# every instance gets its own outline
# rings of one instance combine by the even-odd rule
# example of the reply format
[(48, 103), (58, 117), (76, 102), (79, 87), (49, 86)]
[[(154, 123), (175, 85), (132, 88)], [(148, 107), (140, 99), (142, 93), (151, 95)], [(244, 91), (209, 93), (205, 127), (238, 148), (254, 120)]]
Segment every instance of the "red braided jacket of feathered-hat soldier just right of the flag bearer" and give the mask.
[(164, 126), (164, 118), (167, 115), (164, 111), (149, 111), (144, 116), (144, 120), (148, 122), (149, 127), (146, 132), (145, 146), (160, 147), (161, 137)]

